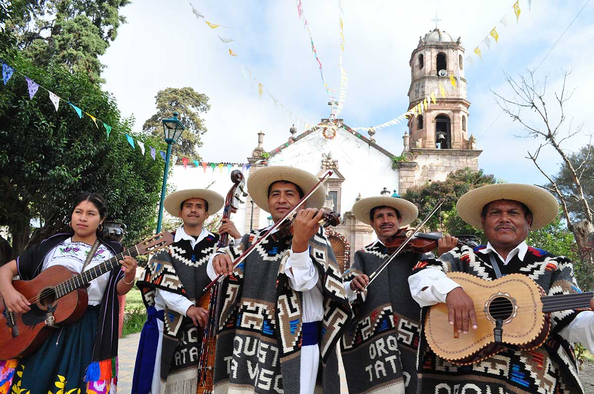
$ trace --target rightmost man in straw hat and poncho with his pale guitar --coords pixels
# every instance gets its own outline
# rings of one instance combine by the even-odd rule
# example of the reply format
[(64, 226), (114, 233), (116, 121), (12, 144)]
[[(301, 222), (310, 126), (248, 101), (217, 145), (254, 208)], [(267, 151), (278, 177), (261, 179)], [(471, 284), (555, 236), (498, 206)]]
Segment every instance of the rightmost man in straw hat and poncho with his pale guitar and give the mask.
[[(482, 227), (488, 243), (422, 260), (409, 277), (412, 297), (432, 306), (424, 308), (419, 392), (583, 393), (571, 343), (594, 349), (594, 313), (575, 310), (592, 307), (591, 297), (579, 294), (570, 260), (526, 244), (558, 207), (530, 185), (488, 185), (460, 198), (460, 217)], [(578, 298), (578, 306), (565, 301)]]

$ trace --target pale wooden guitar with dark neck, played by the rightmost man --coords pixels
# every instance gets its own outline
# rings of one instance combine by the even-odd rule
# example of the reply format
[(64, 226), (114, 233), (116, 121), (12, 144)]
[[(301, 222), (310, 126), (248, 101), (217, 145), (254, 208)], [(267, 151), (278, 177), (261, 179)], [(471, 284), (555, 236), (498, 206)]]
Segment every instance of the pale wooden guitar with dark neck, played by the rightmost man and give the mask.
[(548, 337), (551, 312), (589, 309), (594, 294), (545, 296), (535, 281), (522, 274), (494, 281), (465, 272), (450, 272), (447, 277), (460, 284), (474, 301), (478, 328), (459, 335), (448, 322), (446, 304), (439, 303), (429, 308), (425, 336), (435, 354), (459, 365), (476, 363), (506, 348), (539, 347)]

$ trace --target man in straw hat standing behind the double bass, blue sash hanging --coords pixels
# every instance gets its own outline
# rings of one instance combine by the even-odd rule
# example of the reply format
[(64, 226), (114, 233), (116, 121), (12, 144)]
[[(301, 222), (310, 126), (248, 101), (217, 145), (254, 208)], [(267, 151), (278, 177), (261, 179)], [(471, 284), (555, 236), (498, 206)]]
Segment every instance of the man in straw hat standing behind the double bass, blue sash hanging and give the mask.
[[(219, 235), (204, 228), (209, 213), (219, 211), (225, 199), (207, 189), (171, 193), (164, 206), (183, 224), (168, 250), (151, 258), (137, 282), (149, 314), (138, 345), (132, 393), (194, 393), (198, 382), (198, 355), (208, 311), (195, 306), (196, 294), (210, 282), (206, 265)], [(221, 233), (240, 234), (227, 221)]]

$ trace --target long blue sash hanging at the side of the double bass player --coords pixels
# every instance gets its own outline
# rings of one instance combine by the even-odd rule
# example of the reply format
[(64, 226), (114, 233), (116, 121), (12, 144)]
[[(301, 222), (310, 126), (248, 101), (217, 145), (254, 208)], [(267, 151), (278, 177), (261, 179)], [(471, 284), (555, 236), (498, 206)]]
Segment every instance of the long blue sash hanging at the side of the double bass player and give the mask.
[(146, 394), (151, 390), (154, 373), (154, 358), (157, 356), (157, 344), (159, 344), (159, 326), (157, 319), (165, 320), (163, 310), (157, 310), (154, 306), (147, 309), (147, 321), (144, 322), (143, 331), (140, 333), (138, 342), (138, 353), (132, 377), (132, 393)]

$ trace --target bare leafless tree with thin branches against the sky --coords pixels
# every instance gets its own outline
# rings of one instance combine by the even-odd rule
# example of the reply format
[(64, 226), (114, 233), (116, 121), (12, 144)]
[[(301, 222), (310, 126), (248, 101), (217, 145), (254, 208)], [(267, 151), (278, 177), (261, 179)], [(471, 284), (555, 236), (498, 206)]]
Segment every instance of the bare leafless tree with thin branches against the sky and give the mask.
[[(586, 160), (579, 163), (579, 166), (574, 166), (571, 162), (568, 154), (563, 150), (561, 144), (575, 135), (582, 133), (582, 126), (579, 125), (574, 128), (570, 121), (565, 128), (565, 106), (567, 101), (571, 99), (573, 91), (567, 92), (565, 83), (567, 82), (567, 76), (570, 72), (563, 72), (563, 84), (561, 86), (560, 93), (555, 93), (555, 106), (558, 107), (559, 116), (553, 119), (549, 116), (549, 110), (546, 106), (545, 94), (546, 94), (546, 78), (542, 84), (535, 80), (534, 71), (527, 70), (527, 75), (520, 75), (518, 79), (510, 77), (505, 74), (505, 80), (510, 85), (515, 93), (515, 96), (511, 99), (506, 99), (501, 94), (494, 93), (497, 103), (501, 107), (504, 113), (511, 117), (514, 122), (519, 122), (527, 133), (526, 136), (539, 139), (540, 144), (534, 151), (527, 152), (527, 158), (532, 160), (532, 163), (541, 173), (548, 179), (549, 186), (543, 186), (550, 192), (557, 196), (557, 199), (561, 202), (561, 208), (563, 209), (563, 215), (567, 221), (567, 228), (573, 233), (577, 247), (579, 250), (589, 250), (589, 264), (594, 263), (594, 220), (592, 209), (586, 198), (586, 192), (584, 191), (584, 185), (582, 179), (584, 174), (586, 178), (591, 176), (592, 173), (586, 173), (584, 171), (584, 163)], [(530, 113), (522, 113), (522, 110), (528, 110)], [(532, 115), (532, 116), (531, 116)], [(533, 119), (533, 117), (535, 119)], [(565, 131), (567, 132), (565, 134)], [(563, 132), (563, 134), (561, 134)], [(590, 139), (591, 142), (591, 139)], [(567, 178), (571, 180), (571, 188), (569, 190), (571, 195), (566, 195), (563, 190), (563, 186), (560, 186), (555, 181), (554, 177), (547, 174), (539, 164), (539, 154), (545, 147), (551, 147), (561, 158), (561, 162), (567, 171)], [(590, 143), (586, 147), (586, 151), (590, 152)], [(588, 155), (586, 155), (586, 158)], [(572, 215), (570, 214), (569, 202), (574, 200), (577, 202), (575, 217), (583, 218), (580, 221), (574, 222)]]

